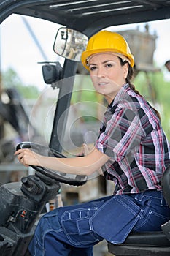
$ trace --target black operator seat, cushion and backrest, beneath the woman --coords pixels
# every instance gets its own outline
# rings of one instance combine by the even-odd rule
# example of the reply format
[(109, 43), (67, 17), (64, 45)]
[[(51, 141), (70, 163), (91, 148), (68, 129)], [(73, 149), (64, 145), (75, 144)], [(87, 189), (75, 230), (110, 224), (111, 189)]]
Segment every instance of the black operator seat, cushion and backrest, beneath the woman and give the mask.
[[(162, 189), (170, 207), (170, 165), (163, 173)], [(108, 243), (109, 252), (115, 256), (169, 256), (170, 220), (161, 228), (163, 231), (131, 233), (123, 244)]]

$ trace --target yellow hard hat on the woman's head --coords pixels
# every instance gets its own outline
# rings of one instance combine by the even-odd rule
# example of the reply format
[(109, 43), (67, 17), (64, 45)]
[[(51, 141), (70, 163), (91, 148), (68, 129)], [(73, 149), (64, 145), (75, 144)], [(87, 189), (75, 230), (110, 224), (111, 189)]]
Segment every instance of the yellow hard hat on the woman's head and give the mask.
[(134, 67), (134, 56), (131, 54), (131, 50), (125, 38), (120, 34), (106, 30), (99, 31), (97, 34), (94, 34), (93, 37), (90, 37), (86, 50), (82, 52), (82, 65), (86, 69), (89, 69), (88, 58), (95, 53), (104, 52), (117, 53), (122, 59), (123, 56), (125, 56), (131, 67)]

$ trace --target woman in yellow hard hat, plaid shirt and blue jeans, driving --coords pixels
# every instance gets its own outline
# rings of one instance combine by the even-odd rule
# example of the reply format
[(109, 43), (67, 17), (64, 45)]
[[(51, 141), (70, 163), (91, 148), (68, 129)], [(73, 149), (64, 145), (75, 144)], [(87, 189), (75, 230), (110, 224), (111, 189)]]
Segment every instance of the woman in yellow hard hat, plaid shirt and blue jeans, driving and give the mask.
[(36, 227), (31, 255), (93, 255), (102, 239), (120, 244), (134, 232), (161, 230), (170, 209), (161, 177), (170, 163), (169, 143), (157, 111), (131, 85), (134, 56), (120, 34), (100, 31), (90, 38), (82, 64), (96, 91), (107, 99), (96, 146), (85, 157), (43, 157), (28, 149), (15, 152), (23, 165), (90, 175), (102, 167), (115, 182), (114, 195), (45, 214)]

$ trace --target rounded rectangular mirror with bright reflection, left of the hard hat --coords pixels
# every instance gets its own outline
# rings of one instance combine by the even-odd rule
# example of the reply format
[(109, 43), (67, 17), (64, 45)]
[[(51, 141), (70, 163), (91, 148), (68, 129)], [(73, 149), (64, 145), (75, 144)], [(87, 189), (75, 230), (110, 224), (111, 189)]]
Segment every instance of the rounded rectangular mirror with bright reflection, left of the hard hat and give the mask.
[(60, 28), (55, 37), (53, 50), (66, 59), (81, 61), (87, 43), (88, 37), (85, 34), (73, 29)]

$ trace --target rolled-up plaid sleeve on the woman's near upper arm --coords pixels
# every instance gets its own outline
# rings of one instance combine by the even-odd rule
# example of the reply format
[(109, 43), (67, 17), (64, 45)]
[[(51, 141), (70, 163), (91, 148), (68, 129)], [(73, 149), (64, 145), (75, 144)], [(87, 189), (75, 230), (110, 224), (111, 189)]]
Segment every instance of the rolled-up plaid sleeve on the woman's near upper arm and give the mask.
[(138, 112), (129, 108), (116, 108), (112, 115), (107, 111), (96, 148), (113, 161), (120, 162), (125, 155), (133, 154), (139, 148), (141, 135)]

